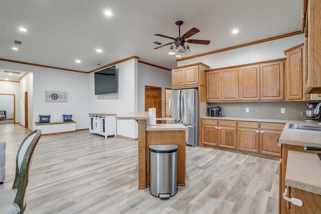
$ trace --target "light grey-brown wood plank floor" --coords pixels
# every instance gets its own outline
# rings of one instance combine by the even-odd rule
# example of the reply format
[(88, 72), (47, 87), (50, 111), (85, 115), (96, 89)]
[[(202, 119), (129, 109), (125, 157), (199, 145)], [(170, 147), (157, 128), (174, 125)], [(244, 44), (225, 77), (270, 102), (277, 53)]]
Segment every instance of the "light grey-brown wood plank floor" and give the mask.
[[(18, 147), (29, 133), (0, 125), (11, 188)], [(89, 134), (42, 136), (25, 213), (278, 213), (278, 160), (186, 147), (186, 186), (170, 199), (138, 190), (137, 141)]]

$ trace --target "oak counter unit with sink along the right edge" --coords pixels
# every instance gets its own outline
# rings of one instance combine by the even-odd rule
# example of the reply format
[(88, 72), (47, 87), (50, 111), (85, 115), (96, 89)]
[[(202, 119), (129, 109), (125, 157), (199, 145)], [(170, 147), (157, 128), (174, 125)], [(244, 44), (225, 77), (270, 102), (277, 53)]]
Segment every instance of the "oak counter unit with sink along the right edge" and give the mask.
[[(318, 123), (292, 120), (284, 126), (279, 138), (279, 213), (321, 213), (321, 160), (316, 155), (321, 151), (304, 150), (304, 146), (321, 148), (321, 131), (289, 128), (290, 124)], [(286, 197), (300, 199), (302, 206), (288, 202)]]

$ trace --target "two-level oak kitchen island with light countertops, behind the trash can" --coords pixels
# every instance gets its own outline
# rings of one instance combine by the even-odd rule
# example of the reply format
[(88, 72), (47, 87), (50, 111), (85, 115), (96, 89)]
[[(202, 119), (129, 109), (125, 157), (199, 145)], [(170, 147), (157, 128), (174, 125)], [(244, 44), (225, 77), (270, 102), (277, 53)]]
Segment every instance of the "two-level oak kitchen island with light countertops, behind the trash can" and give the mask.
[(177, 153), (177, 182), (185, 186), (185, 131), (182, 124), (147, 125), (148, 112), (132, 112), (118, 116), (119, 120), (136, 120), (138, 123), (138, 189), (149, 186), (149, 145), (175, 144)]

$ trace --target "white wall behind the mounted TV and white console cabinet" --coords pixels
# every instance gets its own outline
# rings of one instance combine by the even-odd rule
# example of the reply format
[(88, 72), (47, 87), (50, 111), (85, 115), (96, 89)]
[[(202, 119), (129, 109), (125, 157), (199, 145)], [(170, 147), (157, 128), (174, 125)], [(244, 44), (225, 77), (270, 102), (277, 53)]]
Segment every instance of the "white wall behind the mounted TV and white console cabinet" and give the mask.
[[(138, 111), (138, 60), (131, 59), (115, 66), (118, 69), (118, 96), (113, 94), (95, 95), (94, 73), (88, 75), (88, 113), (106, 113), (121, 116)], [(117, 120), (117, 135), (137, 138), (137, 133), (136, 121)]]

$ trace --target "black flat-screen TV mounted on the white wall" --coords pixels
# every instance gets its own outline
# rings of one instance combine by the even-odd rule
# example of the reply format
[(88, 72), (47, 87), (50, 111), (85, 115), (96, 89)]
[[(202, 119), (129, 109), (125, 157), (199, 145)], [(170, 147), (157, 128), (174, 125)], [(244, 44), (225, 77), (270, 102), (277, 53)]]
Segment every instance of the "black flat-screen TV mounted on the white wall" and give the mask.
[(95, 95), (112, 94), (117, 92), (117, 71), (116, 68), (106, 68), (97, 71), (95, 78)]

